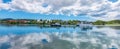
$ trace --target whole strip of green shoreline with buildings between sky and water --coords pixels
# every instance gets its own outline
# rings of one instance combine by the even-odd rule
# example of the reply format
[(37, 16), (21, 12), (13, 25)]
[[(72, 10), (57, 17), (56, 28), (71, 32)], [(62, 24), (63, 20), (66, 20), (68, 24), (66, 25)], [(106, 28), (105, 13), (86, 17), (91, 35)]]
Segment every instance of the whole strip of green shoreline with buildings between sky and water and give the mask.
[[(61, 25), (77, 25), (79, 23), (86, 23), (87, 21), (79, 21), (79, 20), (34, 20), (34, 19), (0, 19), (0, 24), (37, 24), (37, 25), (51, 25), (55, 23), (59, 23)], [(88, 23), (88, 22), (87, 22)], [(114, 25), (114, 26), (120, 26), (120, 20), (111, 20), (111, 21), (102, 21), (97, 20), (95, 22), (89, 22), (93, 25)]]

